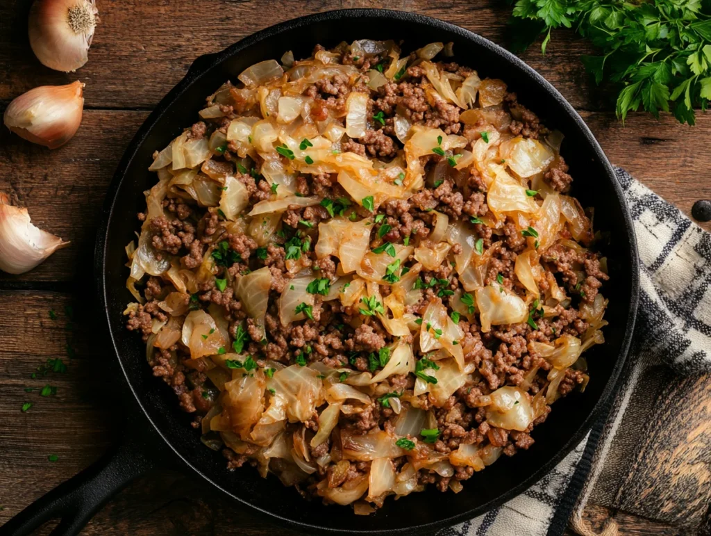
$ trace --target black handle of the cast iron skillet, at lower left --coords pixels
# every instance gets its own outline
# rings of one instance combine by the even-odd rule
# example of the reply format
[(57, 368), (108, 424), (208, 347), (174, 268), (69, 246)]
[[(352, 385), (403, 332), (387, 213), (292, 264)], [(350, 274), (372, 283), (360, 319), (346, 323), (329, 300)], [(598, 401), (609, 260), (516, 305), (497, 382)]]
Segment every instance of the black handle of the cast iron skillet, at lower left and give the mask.
[(0, 527), (0, 536), (25, 536), (60, 518), (50, 536), (79, 534), (109, 498), (154, 466), (144, 438), (128, 432), (92, 466), (61, 483)]

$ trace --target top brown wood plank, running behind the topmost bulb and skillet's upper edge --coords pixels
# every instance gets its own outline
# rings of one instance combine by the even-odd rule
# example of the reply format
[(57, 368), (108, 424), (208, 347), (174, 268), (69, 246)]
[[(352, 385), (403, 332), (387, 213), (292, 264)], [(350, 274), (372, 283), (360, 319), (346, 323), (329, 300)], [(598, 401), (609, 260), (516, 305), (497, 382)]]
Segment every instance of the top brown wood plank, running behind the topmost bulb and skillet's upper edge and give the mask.
[[(87, 107), (150, 109), (183, 78), (198, 56), (221, 51), (275, 23), (341, 7), (415, 11), (463, 26), (504, 46), (510, 40), (506, 21), (511, 7), (493, 0), (447, 4), (427, 0), (350, 0), (316, 5), (283, 0), (279, 9), (272, 9), (269, 0), (203, 0), (197, 11), (191, 0), (102, 0), (98, 4), (101, 22), (89, 61), (77, 73), (65, 74), (45, 68), (34, 57), (26, 31), (28, 6), (23, 0), (0, 5), (0, 21), (6, 21), (9, 28), (0, 32), (0, 100), (9, 101), (37, 85), (63, 84), (78, 78), (87, 84)], [(364, 36), (366, 33), (367, 28), (363, 28)], [(522, 58), (575, 107), (612, 110), (614, 100), (605, 90), (593, 88), (579, 61), (579, 56), (589, 53), (592, 48), (572, 31), (561, 31), (553, 36), (546, 56), (541, 56), (540, 47), (534, 46)]]

